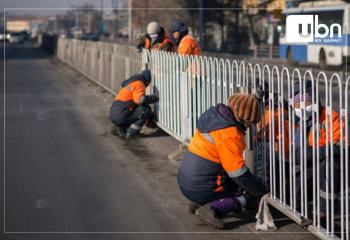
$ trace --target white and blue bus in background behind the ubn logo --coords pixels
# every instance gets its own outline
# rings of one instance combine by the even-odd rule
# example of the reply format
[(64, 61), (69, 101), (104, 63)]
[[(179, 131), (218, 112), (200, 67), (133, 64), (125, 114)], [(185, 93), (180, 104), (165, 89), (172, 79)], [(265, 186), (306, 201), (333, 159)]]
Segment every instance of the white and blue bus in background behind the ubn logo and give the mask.
[[(338, 27), (332, 27), (328, 35), (321, 41), (313, 42), (287, 42), (285, 31), (285, 20), (288, 15), (317, 15), (318, 24), (325, 24), (328, 27), (334, 23), (341, 26), (340, 40), (330, 39), (330, 32), (338, 35)], [(288, 64), (298, 61), (319, 64), (321, 68), (327, 65), (339, 66), (345, 64), (346, 57), (350, 55), (350, 4), (343, 1), (311, 1), (300, 3), (297, 8), (287, 8), (282, 11), (282, 20), (279, 28), (279, 57), (287, 59)], [(315, 24), (313, 24), (315, 26)], [(314, 30), (314, 29), (312, 29)], [(299, 24), (299, 33), (301, 33)], [(325, 33), (326, 29), (320, 27), (319, 33)], [(308, 24), (308, 32), (311, 32)]]

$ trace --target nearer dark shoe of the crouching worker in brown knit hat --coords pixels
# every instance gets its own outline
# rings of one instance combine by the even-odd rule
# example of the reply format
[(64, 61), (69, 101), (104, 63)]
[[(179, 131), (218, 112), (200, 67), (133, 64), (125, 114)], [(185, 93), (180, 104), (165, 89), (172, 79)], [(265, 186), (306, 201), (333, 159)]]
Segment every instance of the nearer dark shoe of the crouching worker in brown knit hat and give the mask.
[(210, 202), (197, 208), (195, 210), (195, 216), (198, 217), (199, 220), (216, 229), (223, 229), (226, 226), (226, 222), (218, 217), (215, 208), (210, 205)]

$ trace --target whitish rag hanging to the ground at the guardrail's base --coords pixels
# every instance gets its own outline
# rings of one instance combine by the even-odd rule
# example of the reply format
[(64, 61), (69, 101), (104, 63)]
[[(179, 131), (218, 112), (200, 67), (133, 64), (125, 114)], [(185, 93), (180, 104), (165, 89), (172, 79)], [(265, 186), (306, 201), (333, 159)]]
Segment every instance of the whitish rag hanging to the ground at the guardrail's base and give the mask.
[(268, 203), (267, 203), (267, 197), (270, 194), (265, 194), (263, 197), (261, 197), (260, 203), (259, 203), (259, 210), (256, 213), (255, 218), (256, 224), (255, 224), (255, 229), (256, 230), (263, 230), (263, 231), (268, 231), (268, 230), (274, 230), (277, 227), (274, 225), (272, 215), (270, 213), (270, 209), (268, 208)]

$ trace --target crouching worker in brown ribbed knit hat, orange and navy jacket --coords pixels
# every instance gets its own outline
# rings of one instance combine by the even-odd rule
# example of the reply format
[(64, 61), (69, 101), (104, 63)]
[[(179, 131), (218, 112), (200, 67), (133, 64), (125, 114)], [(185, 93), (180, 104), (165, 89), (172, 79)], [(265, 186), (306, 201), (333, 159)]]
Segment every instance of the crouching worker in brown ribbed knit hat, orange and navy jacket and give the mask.
[(211, 106), (198, 119), (180, 164), (177, 182), (191, 202), (187, 210), (214, 228), (220, 218), (256, 204), (266, 190), (244, 163), (245, 130), (260, 119), (258, 100), (236, 93), (227, 105)]

